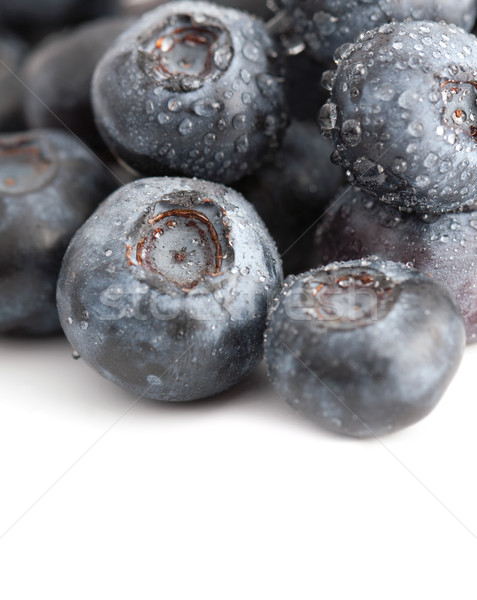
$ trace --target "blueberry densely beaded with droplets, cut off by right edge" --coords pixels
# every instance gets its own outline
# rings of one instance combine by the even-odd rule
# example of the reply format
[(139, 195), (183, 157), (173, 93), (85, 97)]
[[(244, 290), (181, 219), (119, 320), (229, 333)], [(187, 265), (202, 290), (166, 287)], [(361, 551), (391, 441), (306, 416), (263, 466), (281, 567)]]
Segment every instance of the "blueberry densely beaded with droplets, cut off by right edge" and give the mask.
[(350, 180), (416, 212), (473, 204), (477, 39), (454, 25), (396, 23), (339, 55), (320, 123)]

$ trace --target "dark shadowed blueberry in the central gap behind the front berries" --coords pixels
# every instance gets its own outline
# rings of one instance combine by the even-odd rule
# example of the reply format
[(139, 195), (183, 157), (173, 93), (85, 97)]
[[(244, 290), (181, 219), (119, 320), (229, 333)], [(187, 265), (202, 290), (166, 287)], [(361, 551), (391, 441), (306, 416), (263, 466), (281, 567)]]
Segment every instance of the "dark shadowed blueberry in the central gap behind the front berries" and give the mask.
[(343, 178), (330, 164), (331, 151), (316, 123), (294, 122), (273, 162), (236, 184), (277, 242), (286, 273), (314, 266), (313, 224)]

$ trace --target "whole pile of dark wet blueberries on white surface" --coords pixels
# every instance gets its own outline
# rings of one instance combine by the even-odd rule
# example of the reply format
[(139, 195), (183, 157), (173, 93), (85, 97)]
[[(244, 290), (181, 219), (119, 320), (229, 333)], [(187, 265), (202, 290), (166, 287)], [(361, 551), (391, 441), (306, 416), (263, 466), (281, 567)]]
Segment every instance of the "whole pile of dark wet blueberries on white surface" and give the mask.
[(162, 401), (265, 355), (325, 429), (415, 423), (477, 340), (475, 17), (0, 0), (0, 333)]

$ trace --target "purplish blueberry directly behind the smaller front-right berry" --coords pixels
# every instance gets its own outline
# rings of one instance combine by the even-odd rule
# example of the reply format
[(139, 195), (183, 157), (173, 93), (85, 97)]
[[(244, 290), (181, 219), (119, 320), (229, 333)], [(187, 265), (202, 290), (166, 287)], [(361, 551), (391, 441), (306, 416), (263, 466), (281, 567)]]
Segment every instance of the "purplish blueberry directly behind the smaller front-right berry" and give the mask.
[(341, 192), (320, 220), (315, 266), (377, 255), (410, 264), (444, 284), (477, 342), (477, 210), (408, 214), (355, 188)]

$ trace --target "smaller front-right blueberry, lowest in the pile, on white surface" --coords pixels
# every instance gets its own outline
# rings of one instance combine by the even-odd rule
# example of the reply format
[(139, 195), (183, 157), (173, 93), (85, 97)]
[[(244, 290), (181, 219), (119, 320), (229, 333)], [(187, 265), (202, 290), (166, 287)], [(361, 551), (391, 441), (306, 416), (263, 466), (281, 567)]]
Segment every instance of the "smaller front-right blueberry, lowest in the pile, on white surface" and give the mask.
[(325, 429), (370, 437), (427, 415), (465, 346), (445, 288), (400, 263), (333, 263), (290, 277), (265, 358), (287, 402)]

